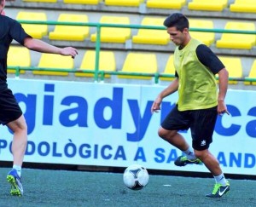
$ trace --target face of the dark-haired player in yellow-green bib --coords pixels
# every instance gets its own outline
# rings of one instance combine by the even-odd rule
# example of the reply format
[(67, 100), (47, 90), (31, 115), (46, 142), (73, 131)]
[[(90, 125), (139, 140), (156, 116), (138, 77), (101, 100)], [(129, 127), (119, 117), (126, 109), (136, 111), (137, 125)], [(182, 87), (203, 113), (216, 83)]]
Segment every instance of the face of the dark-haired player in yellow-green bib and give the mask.
[(184, 29), (183, 32), (177, 30), (176, 26), (168, 27), (167, 33), (170, 35), (170, 39), (177, 46), (184, 46), (187, 39), (187, 29)]

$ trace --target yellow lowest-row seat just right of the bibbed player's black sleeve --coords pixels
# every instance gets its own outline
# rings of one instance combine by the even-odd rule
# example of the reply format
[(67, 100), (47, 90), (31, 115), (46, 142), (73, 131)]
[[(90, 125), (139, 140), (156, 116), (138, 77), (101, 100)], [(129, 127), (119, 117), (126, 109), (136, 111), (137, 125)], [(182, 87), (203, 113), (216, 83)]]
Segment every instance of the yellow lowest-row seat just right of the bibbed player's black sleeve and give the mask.
[[(218, 56), (219, 60), (221, 60), (229, 72), (230, 78), (242, 78), (242, 66), (241, 59), (239, 57), (224, 57)], [(218, 77), (218, 75), (217, 75)], [(236, 80), (230, 80), (230, 84), (236, 84)]]

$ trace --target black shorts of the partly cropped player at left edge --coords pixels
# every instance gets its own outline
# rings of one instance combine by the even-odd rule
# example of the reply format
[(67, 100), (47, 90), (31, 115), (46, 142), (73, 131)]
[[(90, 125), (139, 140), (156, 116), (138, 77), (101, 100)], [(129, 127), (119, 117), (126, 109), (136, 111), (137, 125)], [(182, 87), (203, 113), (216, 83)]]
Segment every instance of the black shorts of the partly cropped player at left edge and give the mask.
[(15, 121), (22, 115), (15, 95), (10, 89), (4, 89), (0, 92), (0, 124), (6, 125)]

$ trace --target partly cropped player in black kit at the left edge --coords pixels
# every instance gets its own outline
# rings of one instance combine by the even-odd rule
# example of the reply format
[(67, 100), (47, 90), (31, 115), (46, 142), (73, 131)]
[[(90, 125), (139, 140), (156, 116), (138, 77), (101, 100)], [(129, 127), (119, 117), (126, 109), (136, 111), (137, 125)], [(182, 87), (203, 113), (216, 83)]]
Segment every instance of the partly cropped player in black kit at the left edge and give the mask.
[(21, 166), (26, 152), (27, 127), (20, 106), (6, 83), (9, 45), (15, 39), (27, 49), (42, 53), (70, 55), (73, 58), (78, 55), (78, 50), (72, 47), (57, 48), (32, 38), (26, 34), (18, 21), (3, 15), (4, 6), (5, 0), (0, 0), (0, 124), (7, 125), (14, 132), (11, 147), (14, 158), (13, 169), (9, 171), (7, 181), (11, 185), (10, 193), (15, 196), (21, 196), (23, 195), (23, 187), (20, 177)]

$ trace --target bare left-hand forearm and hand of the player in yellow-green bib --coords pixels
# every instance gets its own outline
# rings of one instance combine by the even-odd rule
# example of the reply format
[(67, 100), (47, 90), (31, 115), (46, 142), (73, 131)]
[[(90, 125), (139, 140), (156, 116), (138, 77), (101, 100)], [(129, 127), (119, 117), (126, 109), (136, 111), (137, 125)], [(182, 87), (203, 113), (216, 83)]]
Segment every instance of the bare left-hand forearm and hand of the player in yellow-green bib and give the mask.
[(154, 100), (153, 105), (151, 106), (151, 112), (158, 112), (158, 110), (160, 110), (160, 105), (161, 102), (163, 101), (163, 99), (168, 96), (168, 95), (172, 95), (174, 92), (177, 91), (178, 88), (178, 78), (175, 78), (172, 83), (170, 83), (170, 85), (168, 85), (168, 87), (164, 90), (162, 90), (160, 92), (160, 94), (156, 97), (156, 99)]

